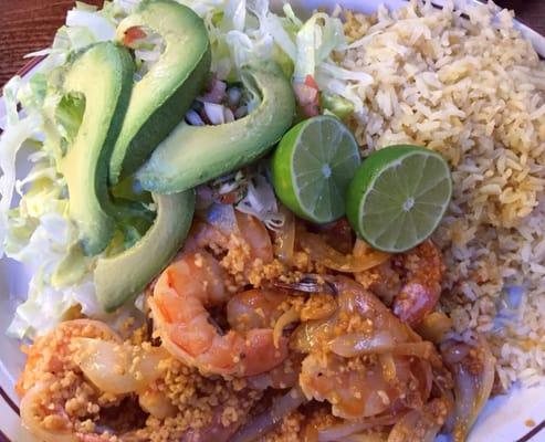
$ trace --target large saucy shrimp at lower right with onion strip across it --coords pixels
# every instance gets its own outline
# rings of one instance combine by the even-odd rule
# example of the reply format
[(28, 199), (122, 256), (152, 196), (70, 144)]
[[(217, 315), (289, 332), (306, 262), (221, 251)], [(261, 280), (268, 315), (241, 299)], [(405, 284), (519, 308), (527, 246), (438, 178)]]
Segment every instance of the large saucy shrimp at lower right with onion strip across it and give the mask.
[(327, 319), (301, 325), (292, 339), (295, 348), (308, 352), (300, 376), (305, 396), (327, 400), (334, 415), (346, 419), (423, 403), (430, 393), (427, 359), (434, 356), (432, 345), (420, 341), (356, 281), (319, 278), (322, 290), (319, 283), (311, 287), (307, 282), (308, 290), (335, 290), (338, 308)]

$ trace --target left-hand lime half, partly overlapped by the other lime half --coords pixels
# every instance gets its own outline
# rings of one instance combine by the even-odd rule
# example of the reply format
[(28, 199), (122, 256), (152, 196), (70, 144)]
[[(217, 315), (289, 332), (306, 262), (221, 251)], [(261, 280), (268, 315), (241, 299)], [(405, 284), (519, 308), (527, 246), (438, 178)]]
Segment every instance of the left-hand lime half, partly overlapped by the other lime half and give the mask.
[(274, 191), (298, 217), (331, 222), (346, 212), (346, 190), (359, 164), (358, 145), (343, 123), (310, 118), (290, 129), (274, 152)]

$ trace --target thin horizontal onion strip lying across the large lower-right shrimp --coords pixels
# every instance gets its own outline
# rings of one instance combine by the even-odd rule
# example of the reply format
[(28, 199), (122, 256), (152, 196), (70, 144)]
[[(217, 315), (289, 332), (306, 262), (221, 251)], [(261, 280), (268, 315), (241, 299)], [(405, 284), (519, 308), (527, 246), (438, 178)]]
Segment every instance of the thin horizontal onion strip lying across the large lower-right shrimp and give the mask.
[(364, 334), (343, 335), (333, 339), (329, 343), (329, 348), (333, 352), (345, 358), (390, 354), (430, 359), (434, 350), (433, 344), (426, 341), (396, 344), (391, 335), (380, 332), (373, 336)]

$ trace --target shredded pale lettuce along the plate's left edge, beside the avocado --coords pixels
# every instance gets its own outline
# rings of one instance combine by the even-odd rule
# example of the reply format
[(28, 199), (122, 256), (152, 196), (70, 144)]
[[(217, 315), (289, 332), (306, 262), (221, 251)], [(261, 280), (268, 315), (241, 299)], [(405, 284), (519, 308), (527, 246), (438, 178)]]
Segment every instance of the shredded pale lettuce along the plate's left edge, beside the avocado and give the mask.
[[(27, 301), (18, 307), (8, 330), (12, 336), (32, 337), (44, 333), (75, 305), (92, 316), (101, 312), (85, 269), (80, 272), (84, 276), (78, 278), (81, 281), (63, 287), (53, 284), (55, 270), (78, 239), (76, 228), (67, 218), (66, 187), (56, 170), (55, 159), (60, 155), (61, 136), (73, 138), (83, 108), (77, 97), (62, 98), (52, 94), (51, 84), (55, 83), (56, 69), (66, 62), (72, 51), (96, 41), (112, 40), (114, 35), (112, 18), (78, 2), (69, 12), (66, 25), (57, 31), (52, 46), (29, 54), (46, 56), (39, 71), (30, 81), (15, 76), (4, 86), (7, 120), (0, 138), (0, 256), (6, 253), (20, 261), (32, 275)], [(19, 104), (23, 109), (20, 113)], [(39, 150), (30, 150), (27, 158), (30, 171), (18, 177), (17, 155), (29, 140), (34, 140)], [(18, 206), (12, 209), (14, 202)]]

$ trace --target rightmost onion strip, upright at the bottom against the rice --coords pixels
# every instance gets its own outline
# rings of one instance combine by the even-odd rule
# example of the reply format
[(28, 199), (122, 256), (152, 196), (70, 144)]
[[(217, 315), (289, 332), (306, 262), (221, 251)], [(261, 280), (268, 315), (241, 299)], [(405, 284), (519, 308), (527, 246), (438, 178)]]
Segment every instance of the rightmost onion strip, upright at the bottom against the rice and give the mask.
[[(452, 348), (452, 346), (448, 348)], [(482, 364), (482, 369), (476, 375), (468, 369), (464, 360), (453, 364), (447, 362), (447, 360), (452, 360), (452, 358), (446, 355), (448, 349), (443, 350), (446, 364), (454, 378), (455, 410), (453, 434), (455, 442), (465, 440), (471, 427), (489, 400), (494, 385), (495, 359), (490, 351), (489, 344), (483, 337), (479, 336), (474, 349), (480, 352)], [(473, 356), (470, 351), (467, 358), (471, 357)], [(473, 369), (474, 364), (472, 364)]]

